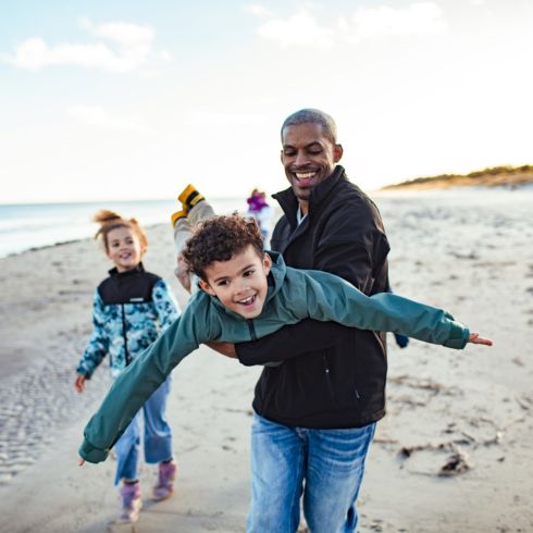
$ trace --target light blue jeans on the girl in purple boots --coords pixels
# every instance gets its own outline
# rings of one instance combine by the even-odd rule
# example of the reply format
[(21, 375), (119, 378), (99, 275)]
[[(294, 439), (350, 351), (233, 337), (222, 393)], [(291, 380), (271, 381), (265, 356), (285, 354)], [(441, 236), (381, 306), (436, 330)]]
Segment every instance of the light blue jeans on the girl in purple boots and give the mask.
[(116, 474), (114, 484), (122, 479), (136, 480), (140, 447), (140, 417), (145, 414), (145, 460), (158, 463), (172, 458), (172, 430), (166, 422), (166, 399), (171, 388), (171, 379), (148, 398), (132, 420), (126, 431), (116, 442)]

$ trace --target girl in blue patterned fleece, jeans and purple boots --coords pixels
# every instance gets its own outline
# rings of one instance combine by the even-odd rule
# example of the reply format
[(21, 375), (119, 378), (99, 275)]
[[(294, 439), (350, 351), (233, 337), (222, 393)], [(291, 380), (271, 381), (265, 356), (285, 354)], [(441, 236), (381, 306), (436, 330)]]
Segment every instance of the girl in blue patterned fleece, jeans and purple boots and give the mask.
[[(97, 288), (94, 300), (94, 330), (88, 346), (76, 369), (74, 386), (83, 393), (86, 381), (109, 355), (113, 377), (117, 377), (158, 337), (161, 330), (178, 317), (178, 307), (169, 286), (159, 276), (146, 272), (141, 259), (148, 239), (135, 219), (125, 220), (111, 211), (99, 211), (95, 222), (100, 224), (96, 238), (103, 243), (106, 255), (115, 264)], [(166, 398), (170, 379), (153, 388), (147, 401), (131, 413), (132, 422), (122, 427), (116, 443), (115, 485), (122, 480), (122, 521), (134, 522), (141, 506), (137, 479), (139, 455), (140, 411), (145, 414), (145, 457), (148, 463), (159, 463), (159, 481), (153, 498), (172, 495), (176, 464), (172, 458), (172, 433), (166, 422)]]

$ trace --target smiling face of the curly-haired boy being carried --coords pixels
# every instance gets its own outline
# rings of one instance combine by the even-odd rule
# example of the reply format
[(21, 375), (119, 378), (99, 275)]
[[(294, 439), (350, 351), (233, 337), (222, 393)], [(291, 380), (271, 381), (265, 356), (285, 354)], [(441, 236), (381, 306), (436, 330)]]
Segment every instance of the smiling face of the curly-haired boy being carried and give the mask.
[(261, 313), (266, 299), (266, 275), (272, 266), (268, 253), (259, 257), (249, 245), (230, 261), (214, 261), (206, 269), (206, 280), (200, 286), (221, 303), (245, 319), (255, 319)]

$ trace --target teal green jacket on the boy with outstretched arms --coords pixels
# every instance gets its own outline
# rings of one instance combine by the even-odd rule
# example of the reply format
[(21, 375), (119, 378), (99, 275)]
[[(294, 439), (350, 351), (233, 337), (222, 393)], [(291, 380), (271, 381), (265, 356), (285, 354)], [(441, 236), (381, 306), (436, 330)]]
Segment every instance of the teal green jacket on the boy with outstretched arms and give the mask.
[(85, 427), (79, 455), (103, 461), (150, 395), (174, 367), (209, 340), (243, 343), (311, 318), (360, 330), (401, 333), (427, 343), (461, 349), (469, 331), (443, 311), (391, 293), (365, 296), (348, 282), (320, 271), (285, 265), (269, 252), (273, 265), (261, 314), (244, 319), (203, 290), (160, 337), (115, 380), (100, 409)]

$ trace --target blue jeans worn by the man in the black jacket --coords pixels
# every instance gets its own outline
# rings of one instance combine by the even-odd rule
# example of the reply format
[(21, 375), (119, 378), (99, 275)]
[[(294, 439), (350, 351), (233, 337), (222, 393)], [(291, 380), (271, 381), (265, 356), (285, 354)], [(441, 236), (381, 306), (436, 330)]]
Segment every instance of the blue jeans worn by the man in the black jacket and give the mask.
[(294, 533), (303, 515), (312, 533), (352, 532), (356, 499), (375, 423), (308, 430), (255, 414), (248, 533)]

